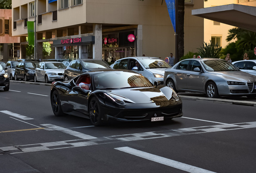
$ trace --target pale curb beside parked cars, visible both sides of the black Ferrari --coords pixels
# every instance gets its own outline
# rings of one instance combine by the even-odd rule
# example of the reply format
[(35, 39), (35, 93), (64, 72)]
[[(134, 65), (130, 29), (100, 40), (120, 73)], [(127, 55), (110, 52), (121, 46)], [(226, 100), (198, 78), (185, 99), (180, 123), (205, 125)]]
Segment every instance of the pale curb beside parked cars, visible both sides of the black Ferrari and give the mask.
[[(10, 82), (19, 82), (19, 83), (26, 83), (26, 84), (51, 86), (51, 84), (38, 83), (38, 82), (26, 82), (26, 81), (21, 81), (21, 80), (10, 80)], [(228, 99), (214, 99), (214, 98), (185, 96), (185, 95), (179, 95), (179, 96), (180, 96), (180, 98), (182, 98), (184, 100), (206, 101), (206, 102), (212, 102), (212, 103), (224, 103), (224, 104), (256, 107), (256, 102), (253, 102), (253, 101), (236, 101), (236, 100), (228, 100)]]

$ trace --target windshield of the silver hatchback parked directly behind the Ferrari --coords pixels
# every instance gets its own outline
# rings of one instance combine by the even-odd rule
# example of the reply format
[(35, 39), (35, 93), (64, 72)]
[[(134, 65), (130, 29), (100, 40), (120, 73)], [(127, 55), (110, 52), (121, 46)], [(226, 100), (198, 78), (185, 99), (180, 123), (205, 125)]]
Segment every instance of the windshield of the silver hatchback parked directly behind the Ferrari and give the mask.
[(171, 65), (161, 59), (140, 59), (145, 68), (170, 68)]

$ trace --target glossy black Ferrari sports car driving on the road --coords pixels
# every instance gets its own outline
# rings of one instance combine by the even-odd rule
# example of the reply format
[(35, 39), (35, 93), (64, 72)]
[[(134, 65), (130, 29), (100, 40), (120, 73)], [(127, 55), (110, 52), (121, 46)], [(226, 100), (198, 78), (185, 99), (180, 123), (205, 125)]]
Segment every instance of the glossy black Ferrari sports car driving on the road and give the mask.
[[(81, 84), (87, 83), (89, 90)], [(130, 70), (95, 70), (70, 81), (53, 82), (52, 110), (88, 117), (95, 126), (109, 118), (118, 121), (162, 121), (182, 117), (182, 101), (170, 87), (159, 89)], [(79, 86), (81, 85), (81, 86)]]

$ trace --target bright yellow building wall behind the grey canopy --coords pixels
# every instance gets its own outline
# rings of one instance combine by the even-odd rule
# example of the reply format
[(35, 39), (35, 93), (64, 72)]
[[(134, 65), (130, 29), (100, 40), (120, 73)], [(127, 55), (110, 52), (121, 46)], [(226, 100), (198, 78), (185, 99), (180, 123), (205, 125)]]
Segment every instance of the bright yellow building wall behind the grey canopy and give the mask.
[[(204, 8), (227, 4), (256, 6), (256, 0), (208, 0), (207, 2), (204, 2)], [(226, 41), (228, 30), (232, 28), (235, 28), (235, 26), (204, 19), (204, 42), (209, 43), (211, 40), (212, 43), (218, 43), (219, 46), (225, 48), (225, 46), (227, 46), (229, 43)]]

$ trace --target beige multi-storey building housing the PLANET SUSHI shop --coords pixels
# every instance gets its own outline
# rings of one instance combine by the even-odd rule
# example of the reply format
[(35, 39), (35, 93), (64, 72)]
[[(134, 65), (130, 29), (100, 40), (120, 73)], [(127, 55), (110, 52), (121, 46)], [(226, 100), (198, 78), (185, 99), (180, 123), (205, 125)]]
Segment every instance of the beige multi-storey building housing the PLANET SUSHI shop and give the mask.
[[(51, 42), (55, 58), (93, 58), (110, 62), (129, 56), (165, 58), (175, 54), (175, 36), (162, 0), (15, 0), (12, 33), (21, 36), (25, 56), (27, 21), (36, 21), (36, 59)], [(203, 19), (191, 15), (202, 0), (186, 0), (184, 52), (203, 44)], [(36, 18), (35, 18), (36, 16)]]

